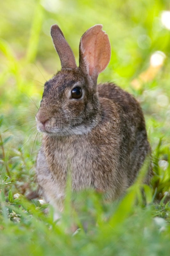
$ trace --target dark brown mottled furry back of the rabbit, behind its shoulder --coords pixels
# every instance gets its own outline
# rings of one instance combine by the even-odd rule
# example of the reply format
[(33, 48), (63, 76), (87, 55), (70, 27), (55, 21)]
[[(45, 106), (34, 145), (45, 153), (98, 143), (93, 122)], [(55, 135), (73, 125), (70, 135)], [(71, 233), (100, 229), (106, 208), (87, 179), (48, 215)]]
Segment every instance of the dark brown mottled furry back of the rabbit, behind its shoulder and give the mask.
[[(145, 157), (151, 154), (142, 109), (131, 94), (113, 83), (99, 84), (98, 92), (100, 101), (101, 99), (110, 99), (117, 106), (121, 122), (117, 132), (122, 139), (119, 162), (126, 162), (128, 184), (131, 185), (142, 167)], [(112, 114), (114, 119), (114, 113)], [(150, 172), (151, 170), (149, 175)]]

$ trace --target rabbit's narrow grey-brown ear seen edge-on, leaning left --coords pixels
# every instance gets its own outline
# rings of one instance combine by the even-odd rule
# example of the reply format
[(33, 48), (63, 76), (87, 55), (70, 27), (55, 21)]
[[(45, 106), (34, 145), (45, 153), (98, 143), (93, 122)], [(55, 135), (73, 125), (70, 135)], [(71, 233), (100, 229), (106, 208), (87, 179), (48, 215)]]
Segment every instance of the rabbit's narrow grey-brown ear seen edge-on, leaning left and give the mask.
[(65, 40), (63, 32), (56, 24), (51, 26), (51, 36), (62, 68), (77, 68), (74, 54)]

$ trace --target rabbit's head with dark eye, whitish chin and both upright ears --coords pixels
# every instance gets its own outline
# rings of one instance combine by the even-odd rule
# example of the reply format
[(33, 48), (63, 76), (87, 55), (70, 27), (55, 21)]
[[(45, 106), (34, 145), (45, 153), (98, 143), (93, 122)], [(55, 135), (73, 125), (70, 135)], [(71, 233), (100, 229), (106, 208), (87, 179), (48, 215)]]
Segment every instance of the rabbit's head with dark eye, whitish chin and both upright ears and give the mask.
[(85, 32), (79, 45), (79, 67), (57, 25), (51, 27), (51, 36), (62, 69), (45, 83), (37, 128), (46, 133), (87, 133), (95, 125), (95, 117), (101, 116), (97, 78), (110, 61), (108, 36), (102, 25)]

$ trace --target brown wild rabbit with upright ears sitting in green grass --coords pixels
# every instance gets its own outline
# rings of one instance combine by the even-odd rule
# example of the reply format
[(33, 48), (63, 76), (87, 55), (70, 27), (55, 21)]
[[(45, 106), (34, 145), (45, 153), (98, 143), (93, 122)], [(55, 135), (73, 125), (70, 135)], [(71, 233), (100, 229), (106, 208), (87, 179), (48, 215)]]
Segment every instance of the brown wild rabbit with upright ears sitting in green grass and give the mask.
[[(43, 132), (36, 176), (46, 201), (63, 211), (67, 175), (73, 191), (92, 188), (110, 201), (137, 178), (151, 147), (137, 100), (114, 83), (97, 85), (111, 47), (102, 25), (89, 28), (79, 44), (79, 67), (63, 32), (51, 36), (61, 71), (44, 85), (37, 129)], [(149, 183), (151, 166), (145, 182)]]

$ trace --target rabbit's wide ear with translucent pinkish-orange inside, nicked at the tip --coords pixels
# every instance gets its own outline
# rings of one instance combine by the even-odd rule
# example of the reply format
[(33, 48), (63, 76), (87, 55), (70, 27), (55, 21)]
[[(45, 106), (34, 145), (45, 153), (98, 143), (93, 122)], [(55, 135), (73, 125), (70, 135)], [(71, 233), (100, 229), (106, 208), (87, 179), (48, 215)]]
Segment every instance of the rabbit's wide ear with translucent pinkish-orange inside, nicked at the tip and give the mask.
[(111, 56), (110, 42), (102, 27), (95, 25), (89, 28), (79, 45), (79, 67), (95, 80), (107, 67)]

